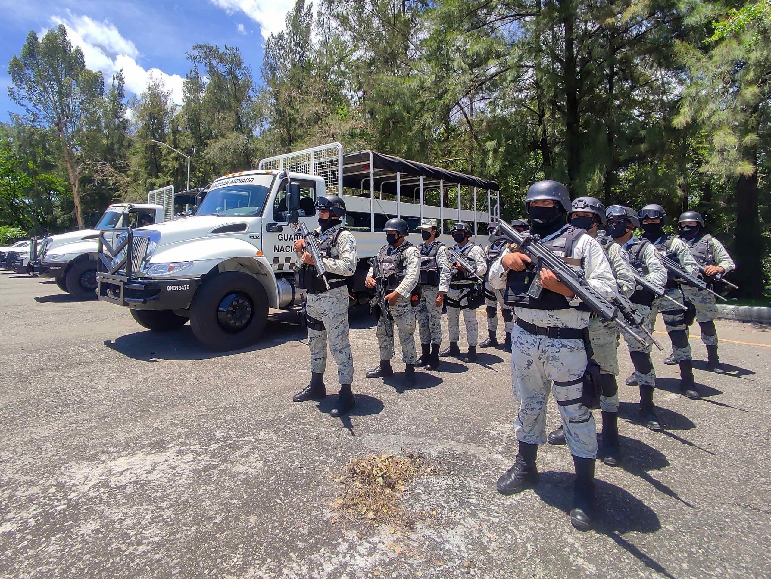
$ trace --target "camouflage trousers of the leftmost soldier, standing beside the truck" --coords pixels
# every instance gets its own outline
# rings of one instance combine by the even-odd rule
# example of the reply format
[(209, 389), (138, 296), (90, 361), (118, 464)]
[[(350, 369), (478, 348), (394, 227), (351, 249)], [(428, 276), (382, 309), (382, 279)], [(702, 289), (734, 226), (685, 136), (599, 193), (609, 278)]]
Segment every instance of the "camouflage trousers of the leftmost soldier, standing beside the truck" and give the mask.
[(338, 365), (341, 384), (353, 382), (353, 356), (348, 340), (348, 288), (335, 288), (323, 294), (308, 295), (305, 314), (324, 323), (323, 330), (308, 328), (311, 348), (311, 372), (324, 372), (327, 367), (327, 341), (332, 358)]

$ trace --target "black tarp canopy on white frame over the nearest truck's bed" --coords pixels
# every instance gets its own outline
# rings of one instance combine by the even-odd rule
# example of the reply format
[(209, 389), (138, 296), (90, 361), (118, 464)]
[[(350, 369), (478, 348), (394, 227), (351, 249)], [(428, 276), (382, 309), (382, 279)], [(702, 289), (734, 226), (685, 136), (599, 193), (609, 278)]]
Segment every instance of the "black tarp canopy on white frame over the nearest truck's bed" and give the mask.
[(382, 191), (385, 194), (396, 194), (396, 173), (402, 187), (402, 194), (412, 196), (412, 192), (419, 187), (420, 177), (423, 177), (423, 190), (436, 189), (443, 182), (444, 187), (476, 187), (480, 190), (497, 191), (500, 186), (495, 181), (474, 177), (466, 173), (451, 171), (385, 155), (375, 153), (372, 150), (356, 151), (342, 157), (342, 184), (343, 187), (363, 189), (369, 194), (370, 164), (375, 170), (375, 194)]

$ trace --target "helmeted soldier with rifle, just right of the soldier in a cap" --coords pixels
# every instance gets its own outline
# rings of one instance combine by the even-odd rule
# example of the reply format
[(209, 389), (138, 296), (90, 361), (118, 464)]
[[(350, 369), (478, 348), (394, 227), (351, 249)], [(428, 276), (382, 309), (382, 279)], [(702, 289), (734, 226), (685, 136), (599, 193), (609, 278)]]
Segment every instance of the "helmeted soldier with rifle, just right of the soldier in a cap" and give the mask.
[[(453, 274), (447, 292), (447, 328), (449, 329), (449, 348), (439, 353), (440, 356), (460, 357), (458, 340), (460, 339), (460, 312), (463, 311), (463, 322), (466, 324), (466, 339), (469, 342), (469, 352), (463, 362), (476, 361), (476, 341), (479, 339), (479, 325), (476, 321), (476, 307), (481, 301), (477, 282), (473, 275), (482, 278), (487, 272), (487, 261), (484, 251), (479, 245), (469, 241), (473, 235), (471, 228), (460, 221), (450, 227), (455, 246), (453, 249), (473, 264), (474, 271), (465, 271), (460, 264), (451, 263), (449, 269)], [(477, 301), (479, 300), (479, 301)]]

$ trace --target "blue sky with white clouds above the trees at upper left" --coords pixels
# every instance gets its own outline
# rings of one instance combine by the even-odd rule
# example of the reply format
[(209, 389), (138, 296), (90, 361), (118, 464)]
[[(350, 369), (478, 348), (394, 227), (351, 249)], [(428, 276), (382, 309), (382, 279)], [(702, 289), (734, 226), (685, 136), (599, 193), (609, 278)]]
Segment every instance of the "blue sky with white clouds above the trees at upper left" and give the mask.
[(30, 30), (63, 23), (80, 45), (86, 65), (109, 79), (123, 69), (126, 89), (141, 93), (150, 74), (160, 77), (181, 102), (190, 69), (185, 53), (199, 42), (235, 45), (259, 80), (264, 38), (284, 28), (290, 0), (0, 0), (0, 121), (20, 112), (8, 98), (8, 61), (19, 54)]

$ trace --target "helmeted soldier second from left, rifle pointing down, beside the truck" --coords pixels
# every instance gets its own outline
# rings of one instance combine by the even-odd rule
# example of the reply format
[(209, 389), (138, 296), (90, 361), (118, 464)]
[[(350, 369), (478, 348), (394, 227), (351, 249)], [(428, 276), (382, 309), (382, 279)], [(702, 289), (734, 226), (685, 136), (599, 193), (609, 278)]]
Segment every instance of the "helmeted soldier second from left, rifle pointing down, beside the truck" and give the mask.
[[(406, 383), (415, 385), (415, 362), (417, 352), (415, 349), (415, 310), (412, 305), (412, 291), (418, 284), (420, 275), (420, 251), (406, 240), (409, 234), (407, 222), (403, 219), (389, 219), (385, 222), (385, 238), (388, 244), (384, 245), (377, 259), (382, 272), (382, 283), (385, 283), (388, 292), (385, 299), (388, 301), (393, 316), (393, 324), (399, 330), (399, 344), (402, 345), (402, 360), (406, 364), (404, 371)], [(368, 288), (374, 288), (379, 280), (372, 276), (375, 272), (369, 268), (365, 284)], [(417, 303), (417, 296), (415, 303)], [(377, 368), (367, 372), (367, 378), (380, 378), (393, 374), (391, 359), (393, 358), (393, 335), (389, 337), (385, 325), (390, 323), (387, 316), (381, 315), (378, 320), (378, 345), (380, 347), (380, 363)]]

